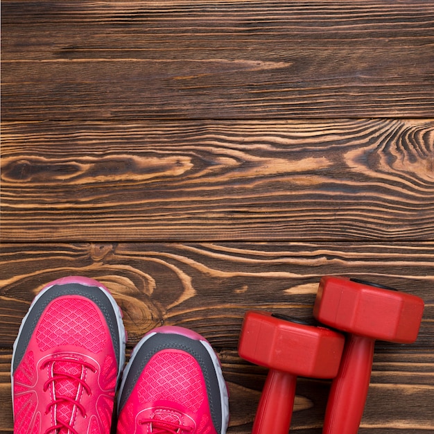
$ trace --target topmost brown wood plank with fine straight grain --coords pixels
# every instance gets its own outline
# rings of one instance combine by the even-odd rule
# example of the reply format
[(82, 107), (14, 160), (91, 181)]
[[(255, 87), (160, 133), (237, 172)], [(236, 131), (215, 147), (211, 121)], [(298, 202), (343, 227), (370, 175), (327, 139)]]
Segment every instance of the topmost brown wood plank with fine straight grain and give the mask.
[(431, 117), (426, 1), (2, 4), (3, 120)]

